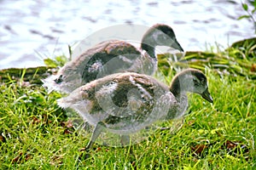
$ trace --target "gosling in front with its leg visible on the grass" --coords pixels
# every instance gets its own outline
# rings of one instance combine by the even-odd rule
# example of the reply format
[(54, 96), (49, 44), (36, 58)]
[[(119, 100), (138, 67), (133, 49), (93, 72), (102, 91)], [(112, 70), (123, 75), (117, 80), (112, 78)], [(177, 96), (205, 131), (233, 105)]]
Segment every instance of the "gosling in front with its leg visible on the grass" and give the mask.
[(187, 92), (213, 101), (207, 77), (201, 71), (187, 69), (172, 79), (170, 87), (143, 74), (112, 74), (77, 88), (59, 99), (58, 105), (73, 108), (95, 126), (87, 145), (89, 150), (103, 130), (129, 136), (156, 121), (183, 116), (188, 105)]

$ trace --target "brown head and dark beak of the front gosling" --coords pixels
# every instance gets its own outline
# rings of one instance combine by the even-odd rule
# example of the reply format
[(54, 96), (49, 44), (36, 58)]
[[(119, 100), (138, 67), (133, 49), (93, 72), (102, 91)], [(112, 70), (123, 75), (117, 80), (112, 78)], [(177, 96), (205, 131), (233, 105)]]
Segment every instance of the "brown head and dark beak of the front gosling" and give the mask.
[(213, 103), (208, 91), (207, 77), (195, 69), (186, 69), (178, 73), (172, 80), (170, 90), (176, 96), (186, 92), (200, 94), (203, 99)]

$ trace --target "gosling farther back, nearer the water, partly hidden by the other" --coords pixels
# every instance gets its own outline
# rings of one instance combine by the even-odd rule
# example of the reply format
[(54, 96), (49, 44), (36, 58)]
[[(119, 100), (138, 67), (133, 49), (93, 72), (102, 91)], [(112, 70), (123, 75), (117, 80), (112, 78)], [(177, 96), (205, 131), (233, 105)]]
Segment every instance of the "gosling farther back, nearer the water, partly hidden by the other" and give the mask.
[(158, 45), (183, 51), (172, 28), (157, 24), (146, 31), (141, 48), (120, 40), (98, 43), (64, 65), (56, 75), (44, 79), (44, 87), (49, 92), (71, 93), (87, 82), (117, 72), (134, 71), (152, 75), (157, 68), (154, 49)]

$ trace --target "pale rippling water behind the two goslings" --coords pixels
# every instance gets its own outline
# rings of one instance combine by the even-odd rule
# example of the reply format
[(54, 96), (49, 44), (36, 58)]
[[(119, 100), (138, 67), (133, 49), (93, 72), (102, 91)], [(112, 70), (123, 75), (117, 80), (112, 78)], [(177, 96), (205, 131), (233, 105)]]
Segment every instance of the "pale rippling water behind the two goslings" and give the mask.
[(43, 59), (67, 54), (67, 45), (108, 26), (172, 26), (185, 50), (206, 43), (227, 47), (253, 37), (253, 23), (240, 0), (172, 1), (0, 0), (0, 69), (44, 65)]

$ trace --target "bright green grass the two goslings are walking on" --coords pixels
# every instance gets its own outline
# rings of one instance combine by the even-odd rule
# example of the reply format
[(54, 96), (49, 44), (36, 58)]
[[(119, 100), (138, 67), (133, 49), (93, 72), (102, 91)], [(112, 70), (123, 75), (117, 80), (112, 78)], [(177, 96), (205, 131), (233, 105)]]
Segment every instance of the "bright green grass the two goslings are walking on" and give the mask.
[[(251, 58), (246, 62), (255, 64)], [(9, 76), (0, 87), (0, 169), (255, 169), (254, 75), (208, 67), (214, 104), (189, 94), (188, 115), (176, 134), (155, 131), (125, 148), (95, 144), (88, 159), (79, 156), (90, 134), (70, 126), (66, 111), (56, 105), (61, 95), (22, 82), (26, 72), (20, 72), (21, 81)]]

